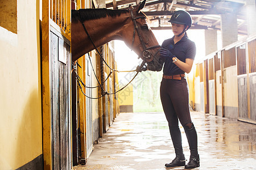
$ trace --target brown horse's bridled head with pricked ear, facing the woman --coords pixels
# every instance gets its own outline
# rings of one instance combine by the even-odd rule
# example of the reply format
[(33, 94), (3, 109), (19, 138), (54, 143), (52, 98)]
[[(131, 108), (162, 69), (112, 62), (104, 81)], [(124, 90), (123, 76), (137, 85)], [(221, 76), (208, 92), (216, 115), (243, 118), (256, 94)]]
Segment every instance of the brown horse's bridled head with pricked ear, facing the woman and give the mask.
[(147, 16), (141, 12), (145, 3), (146, 0), (136, 8), (129, 6), (131, 20), (127, 25), (133, 31), (126, 31), (123, 33), (123, 37), (127, 40), (125, 41), (126, 45), (130, 46), (139, 57), (147, 62), (148, 70), (160, 71), (163, 66), (163, 58), (159, 54), (160, 45), (147, 24)]

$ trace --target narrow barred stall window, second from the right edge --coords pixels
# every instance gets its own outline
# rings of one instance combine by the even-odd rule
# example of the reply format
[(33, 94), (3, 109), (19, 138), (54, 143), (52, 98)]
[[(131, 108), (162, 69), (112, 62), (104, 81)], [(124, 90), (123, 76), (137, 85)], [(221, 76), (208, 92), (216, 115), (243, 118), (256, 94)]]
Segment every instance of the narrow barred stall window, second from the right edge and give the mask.
[(237, 74), (246, 74), (246, 45), (237, 46)]

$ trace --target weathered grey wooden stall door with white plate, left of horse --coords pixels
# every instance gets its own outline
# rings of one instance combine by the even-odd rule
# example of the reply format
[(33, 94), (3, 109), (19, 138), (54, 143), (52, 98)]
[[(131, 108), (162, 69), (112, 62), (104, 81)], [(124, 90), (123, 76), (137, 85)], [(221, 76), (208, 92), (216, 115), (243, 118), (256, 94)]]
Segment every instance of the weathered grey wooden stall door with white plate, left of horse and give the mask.
[(71, 169), (70, 45), (50, 32), (52, 169)]

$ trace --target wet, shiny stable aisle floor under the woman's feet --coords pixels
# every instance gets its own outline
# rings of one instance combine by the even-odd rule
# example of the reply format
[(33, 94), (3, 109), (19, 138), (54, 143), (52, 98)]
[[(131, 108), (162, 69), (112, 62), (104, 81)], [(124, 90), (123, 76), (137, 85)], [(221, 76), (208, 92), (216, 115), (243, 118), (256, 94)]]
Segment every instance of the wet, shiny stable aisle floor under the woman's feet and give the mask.
[[(201, 159), (195, 169), (256, 169), (256, 125), (200, 112), (191, 116)], [(188, 142), (180, 128), (188, 160)], [(121, 113), (94, 145), (86, 165), (74, 169), (184, 169), (164, 167), (174, 158), (164, 113)]]

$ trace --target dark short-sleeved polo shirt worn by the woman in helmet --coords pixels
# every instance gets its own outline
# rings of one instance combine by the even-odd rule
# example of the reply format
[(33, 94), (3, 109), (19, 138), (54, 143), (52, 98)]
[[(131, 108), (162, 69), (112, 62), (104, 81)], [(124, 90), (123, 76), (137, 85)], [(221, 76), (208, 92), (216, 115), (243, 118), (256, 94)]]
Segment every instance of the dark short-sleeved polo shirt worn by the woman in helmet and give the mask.
[[(180, 41), (174, 44), (174, 37), (163, 41), (163, 48), (170, 50), (180, 61), (185, 62), (186, 58), (195, 59), (196, 45), (195, 42), (188, 39), (186, 35)], [(163, 74), (164, 75), (177, 75), (184, 74), (185, 72), (172, 62), (172, 58), (167, 57), (164, 61)]]

